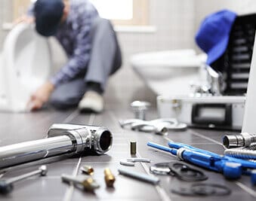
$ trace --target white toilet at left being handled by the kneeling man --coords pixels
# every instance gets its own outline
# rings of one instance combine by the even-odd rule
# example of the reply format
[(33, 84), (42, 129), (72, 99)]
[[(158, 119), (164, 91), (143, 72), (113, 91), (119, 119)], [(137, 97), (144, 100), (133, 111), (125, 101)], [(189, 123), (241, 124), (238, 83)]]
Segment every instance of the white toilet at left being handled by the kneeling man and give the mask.
[(34, 25), (15, 26), (0, 55), (0, 111), (26, 111), (31, 94), (50, 75), (48, 40), (35, 32)]

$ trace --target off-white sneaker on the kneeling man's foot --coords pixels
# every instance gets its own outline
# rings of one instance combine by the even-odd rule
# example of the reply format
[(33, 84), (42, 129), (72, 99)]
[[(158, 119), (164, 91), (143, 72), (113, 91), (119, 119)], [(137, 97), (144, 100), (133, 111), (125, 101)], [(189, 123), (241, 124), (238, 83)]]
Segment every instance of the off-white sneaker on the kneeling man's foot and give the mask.
[(80, 111), (92, 111), (100, 113), (103, 111), (104, 107), (103, 96), (92, 90), (88, 91), (79, 102), (78, 107)]

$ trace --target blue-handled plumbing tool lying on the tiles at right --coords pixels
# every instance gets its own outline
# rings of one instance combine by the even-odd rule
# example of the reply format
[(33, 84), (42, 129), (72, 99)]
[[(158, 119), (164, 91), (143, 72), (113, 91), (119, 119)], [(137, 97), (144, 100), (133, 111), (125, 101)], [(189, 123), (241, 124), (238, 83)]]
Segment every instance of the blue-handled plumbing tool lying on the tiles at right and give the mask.
[(251, 169), (256, 169), (256, 163), (233, 157), (221, 156), (182, 143), (168, 142), (170, 148), (153, 142), (148, 142), (147, 145), (152, 148), (167, 151), (177, 156), (180, 160), (193, 163), (196, 166), (201, 166), (214, 172), (221, 172), (225, 178), (229, 179), (239, 178), (242, 174), (254, 175), (254, 172), (251, 172)]

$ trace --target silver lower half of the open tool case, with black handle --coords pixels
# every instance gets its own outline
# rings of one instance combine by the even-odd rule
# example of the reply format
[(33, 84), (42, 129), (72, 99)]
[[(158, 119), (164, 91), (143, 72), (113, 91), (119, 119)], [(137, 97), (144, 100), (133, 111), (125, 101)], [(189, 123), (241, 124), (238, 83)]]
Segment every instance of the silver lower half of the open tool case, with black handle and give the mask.
[(159, 116), (189, 126), (242, 129), (245, 96), (157, 97)]

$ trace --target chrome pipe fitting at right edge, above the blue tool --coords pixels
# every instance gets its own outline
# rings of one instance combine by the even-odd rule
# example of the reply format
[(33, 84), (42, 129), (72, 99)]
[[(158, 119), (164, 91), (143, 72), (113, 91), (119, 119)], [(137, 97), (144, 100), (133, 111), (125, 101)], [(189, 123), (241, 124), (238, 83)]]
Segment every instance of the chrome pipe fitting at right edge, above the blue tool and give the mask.
[(223, 145), (226, 148), (248, 147), (256, 142), (256, 134), (242, 132), (240, 135), (226, 135), (223, 137)]

